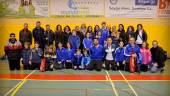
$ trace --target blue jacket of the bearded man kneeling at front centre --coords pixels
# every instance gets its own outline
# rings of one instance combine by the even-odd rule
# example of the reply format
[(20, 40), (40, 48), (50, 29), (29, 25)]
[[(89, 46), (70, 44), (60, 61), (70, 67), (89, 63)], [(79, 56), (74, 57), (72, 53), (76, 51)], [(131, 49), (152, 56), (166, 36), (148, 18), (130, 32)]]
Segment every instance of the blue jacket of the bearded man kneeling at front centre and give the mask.
[(90, 48), (90, 56), (92, 60), (103, 60), (104, 59), (104, 48), (102, 45), (98, 47), (93, 46)]

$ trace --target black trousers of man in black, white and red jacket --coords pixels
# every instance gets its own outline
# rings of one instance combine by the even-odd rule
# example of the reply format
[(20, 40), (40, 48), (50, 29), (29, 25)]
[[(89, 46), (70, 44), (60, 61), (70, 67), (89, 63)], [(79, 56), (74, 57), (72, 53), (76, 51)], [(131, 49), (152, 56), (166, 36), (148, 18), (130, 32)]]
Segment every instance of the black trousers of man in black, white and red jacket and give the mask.
[(9, 62), (9, 69), (12, 70), (20, 70), (20, 60), (8, 60)]

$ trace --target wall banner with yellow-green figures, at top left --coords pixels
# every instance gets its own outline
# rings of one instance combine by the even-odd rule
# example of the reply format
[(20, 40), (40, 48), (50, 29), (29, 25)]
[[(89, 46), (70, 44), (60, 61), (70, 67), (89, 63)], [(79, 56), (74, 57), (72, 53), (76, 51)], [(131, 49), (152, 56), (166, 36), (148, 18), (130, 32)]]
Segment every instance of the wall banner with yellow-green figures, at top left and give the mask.
[(49, 16), (48, 0), (3, 0), (0, 5), (5, 16)]

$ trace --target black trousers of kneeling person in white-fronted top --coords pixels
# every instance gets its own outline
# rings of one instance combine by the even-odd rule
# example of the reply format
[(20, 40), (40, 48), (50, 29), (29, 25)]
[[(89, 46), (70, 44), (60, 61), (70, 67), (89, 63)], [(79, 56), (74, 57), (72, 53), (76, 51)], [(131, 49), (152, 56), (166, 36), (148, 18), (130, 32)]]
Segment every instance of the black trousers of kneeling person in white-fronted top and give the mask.
[(116, 70), (116, 64), (114, 62), (114, 60), (106, 60), (105, 61), (105, 68), (106, 70)]

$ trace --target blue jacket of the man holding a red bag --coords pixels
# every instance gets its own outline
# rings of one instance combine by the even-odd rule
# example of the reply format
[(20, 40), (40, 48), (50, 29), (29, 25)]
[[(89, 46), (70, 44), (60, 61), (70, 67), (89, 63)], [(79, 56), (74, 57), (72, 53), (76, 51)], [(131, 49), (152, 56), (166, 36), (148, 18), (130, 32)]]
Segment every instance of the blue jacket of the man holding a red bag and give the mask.
[(141, 56), (141, 53), (140, 53), (140, 47), (138, 45), (135, 45), (134, 48), (130, 44), (126, 45), (124, 55), (127, 57), (127, 60), (130, 59), (130, 56), (131, 56), (132, 53), (137, 54), (136, 63), (141, 64), (142, 63), (142, 56)]

